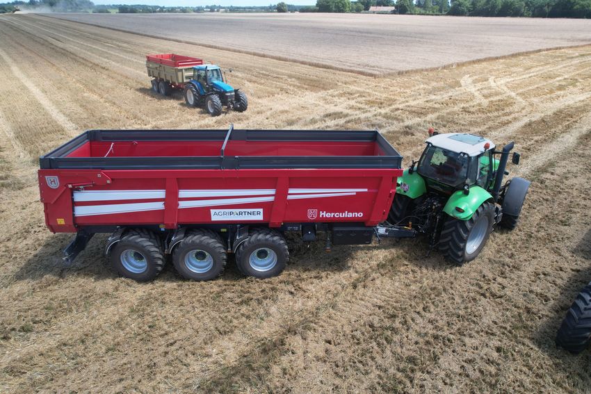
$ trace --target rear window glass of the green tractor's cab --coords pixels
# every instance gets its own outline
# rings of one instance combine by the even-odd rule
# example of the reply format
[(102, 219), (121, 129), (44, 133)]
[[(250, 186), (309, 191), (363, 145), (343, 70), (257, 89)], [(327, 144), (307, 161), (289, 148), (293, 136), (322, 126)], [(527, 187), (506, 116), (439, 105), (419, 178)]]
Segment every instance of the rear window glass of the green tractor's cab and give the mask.
[(466, 181), (468, 157), (430, 145), (421, 156), (416, 170), (423, 177), (458, 187)]

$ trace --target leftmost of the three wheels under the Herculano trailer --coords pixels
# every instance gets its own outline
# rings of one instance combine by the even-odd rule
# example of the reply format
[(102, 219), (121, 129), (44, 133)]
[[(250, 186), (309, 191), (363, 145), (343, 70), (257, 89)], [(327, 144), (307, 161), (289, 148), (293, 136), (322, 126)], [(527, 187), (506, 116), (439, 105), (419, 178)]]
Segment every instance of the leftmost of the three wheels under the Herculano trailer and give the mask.
[[(111, 265), (122, 277), (151, 281), (164, 268), (162, 240), (152, 231), (131, 229), (109, 251)], [(141, 270), (145, 265), (145, 269)]]

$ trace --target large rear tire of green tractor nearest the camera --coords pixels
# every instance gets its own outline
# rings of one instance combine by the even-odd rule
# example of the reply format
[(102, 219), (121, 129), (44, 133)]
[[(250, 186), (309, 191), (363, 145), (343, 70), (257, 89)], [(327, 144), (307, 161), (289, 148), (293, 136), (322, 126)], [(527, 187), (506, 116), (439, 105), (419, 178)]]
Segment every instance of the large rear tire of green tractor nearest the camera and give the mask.
[[(484, 223), (483, 221), (487, 221)], [(439, 251), (455, 264), (462, 265), (472, 261), (485, 247), (494, 224), (494, 205), (485, 202), (478, 207), (469, 220), (458, 220), (451, 217), (445, 222), (439, 238)], [(476, 231), (476, 232), (474, 232)], [(480, 238), (480, 236), (482, 238)], [(470, 236), (478, 236), (470, 240)], [(476, 245), (478, 245), (476, 247)]]

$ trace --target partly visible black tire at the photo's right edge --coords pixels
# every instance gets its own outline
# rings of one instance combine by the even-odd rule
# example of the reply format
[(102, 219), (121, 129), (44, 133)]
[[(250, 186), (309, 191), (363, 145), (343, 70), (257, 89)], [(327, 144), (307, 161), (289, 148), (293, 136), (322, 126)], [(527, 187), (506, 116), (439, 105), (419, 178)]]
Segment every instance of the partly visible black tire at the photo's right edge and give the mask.
[(578, 293), (556, 334), (556, 345), (578, 354), (583, 352), (591, 337), (591, 284)]

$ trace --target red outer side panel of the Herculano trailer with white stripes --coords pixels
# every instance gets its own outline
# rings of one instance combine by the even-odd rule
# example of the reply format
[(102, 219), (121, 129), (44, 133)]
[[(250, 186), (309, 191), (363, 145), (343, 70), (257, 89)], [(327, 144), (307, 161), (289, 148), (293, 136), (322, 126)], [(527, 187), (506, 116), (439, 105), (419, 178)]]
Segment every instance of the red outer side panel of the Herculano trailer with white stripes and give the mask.
[[(102, 225), (223, 224), (212, 220), (211, 210), (236, 208), (261, 209), (262, 220), (227, 223), (375, 226), (385, 220), (401, 174), (397, 169), (40, 170), (39, 181), (49, 229), (74, 232)], [(58, 188), (49, 188), (48, 176), (58, 177)]]

